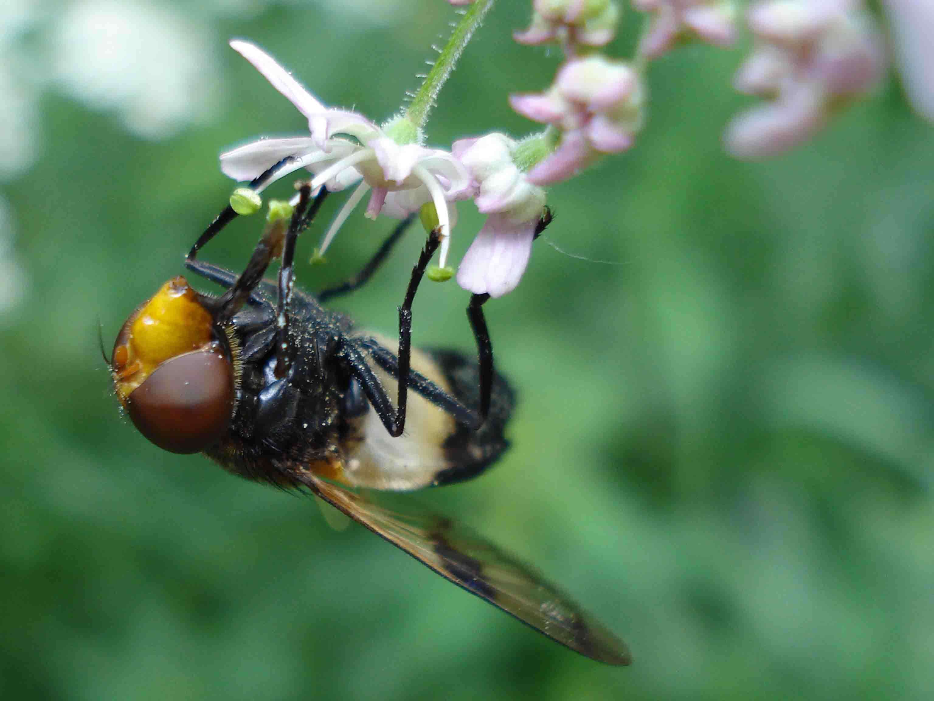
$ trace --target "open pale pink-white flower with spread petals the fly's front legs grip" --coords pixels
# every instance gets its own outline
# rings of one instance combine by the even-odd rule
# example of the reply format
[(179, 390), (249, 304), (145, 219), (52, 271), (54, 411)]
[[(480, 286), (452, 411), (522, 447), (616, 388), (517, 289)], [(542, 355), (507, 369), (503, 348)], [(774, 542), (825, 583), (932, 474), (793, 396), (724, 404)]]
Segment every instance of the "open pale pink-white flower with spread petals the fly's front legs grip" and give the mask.
[(276, 179), (304, 167), (315, 174), (313, 189), (326, 185), (336, 191), (360, 182), (322, 240), (321, 252), (366, 193), (371, 193), (366, 211), (371, 218), (381, 212), (402, 218), (432, 202), (443, 236), (441, 265), (445, 265), (451, 227), (447, 202), (464, 196), (471, 187), (470, 175), (460, 162), (448, 151), (422, 146), (421, 135), (404, 118), (377, 126), (356, 112), (325, 107), (259, 47), (238, 40), (231, 46), (298, 107), (308, 119), (310, 136), (261, 138), (221, 153), (221, 171), (233, 179), (249, 180), (291, 157)]

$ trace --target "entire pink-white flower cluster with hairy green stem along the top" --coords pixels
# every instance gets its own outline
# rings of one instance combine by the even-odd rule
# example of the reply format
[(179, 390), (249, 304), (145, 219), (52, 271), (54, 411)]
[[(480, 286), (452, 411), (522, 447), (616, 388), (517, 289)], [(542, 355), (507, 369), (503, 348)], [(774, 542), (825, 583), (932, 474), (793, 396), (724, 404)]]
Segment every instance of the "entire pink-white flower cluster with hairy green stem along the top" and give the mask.
[[(736, 9), (734, 0), (631, 0), (646, 17), (633, 55), (625, 61), (601, 53), (616, 36), (621, 10), (614, 0), (532, 0), (531, 22), (515, 39), (556, 43), (564, 60), (543, 92), (509, 99), (519, 114), (544, 124), (544, 130), (519, 139), (500, 133), (462, 138), (449, 149), (438, 149), (425, 145), (428, 114), (493, 4), (448, 2), (462, 6), (454, 32), (412, 101), (381, 124), (353, 110), (325, 106), (257, 46), (231, 42), (302, 112), (308, 136), (248, 143), (221, 154), (220, 166), (237, 180), (255, 179), (277, 164), (273, 179), (305, 168), (313, 174), (312, 188), (352, 187), (322, 239), (322, 253), (366, 195), (370, 218), (421, 211), (423, 222), (431, 222), (441, 236), (440, 268), (429, 276), (434, 279), (453, 273), (446, 260), (457, 220), (455, 203), (473, 200), (487, 219), (460, 261), (457, 280), (473, 293), (495, 297), (515, 289), (529, 263), (545, 208), (543, 187), (573, 178), (606, 154), (630, 150), (644, 124), (651, 62), (685, 41), (729, 45)], [(934, 9), (909, 0), (884, 4), (901, 39), (899, 61), (909, 93), (918, 110), (930, 116)], [(768, 101), (729, 124), (725, 142), (737, 157), (759, 158), (800, 143), (832, 112), (868, 93), (882, 75), (881, 42), (863, 0), (758, 0), (748, 10), (747, 23), (756, 44), (736, 76), (736, 87)], [(247, 199), (259, 201), (258, 193), (268, 184), (255, 187)]]

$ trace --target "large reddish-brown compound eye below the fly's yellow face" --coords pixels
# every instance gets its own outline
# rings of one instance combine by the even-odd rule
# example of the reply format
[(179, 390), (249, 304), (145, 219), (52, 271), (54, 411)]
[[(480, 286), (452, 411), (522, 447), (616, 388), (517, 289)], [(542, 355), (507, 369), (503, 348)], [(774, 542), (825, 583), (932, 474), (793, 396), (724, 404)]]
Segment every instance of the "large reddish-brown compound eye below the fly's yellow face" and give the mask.
[(127, 397), (126, 409), (139, 432), (163, 450), (200, 452), (227, 431), (233, 394), (230, 360), (195, 350), (153, 370)]

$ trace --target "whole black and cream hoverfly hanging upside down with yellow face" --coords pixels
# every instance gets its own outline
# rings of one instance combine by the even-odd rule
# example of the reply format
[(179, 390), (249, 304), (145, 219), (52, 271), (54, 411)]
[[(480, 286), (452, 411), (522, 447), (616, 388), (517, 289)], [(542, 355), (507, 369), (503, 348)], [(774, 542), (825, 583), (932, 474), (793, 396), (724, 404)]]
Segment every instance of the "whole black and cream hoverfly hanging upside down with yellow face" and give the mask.
[[(230, 207), (219, 215), (185, 265), (226, 292), (198, 293), (178, 277), (134, 311), (109, 361), (123, 408), (160, 448), (203, 451), (241, 477), (315, 494), (545, 636), (604, 663), (630, 664), (625, 643), (530, 567), (447, 519), (389, 510), (357, 491), (409, 491), (480, 474), (508, 445), (513, 394), (493, 371), (486, 295), (474, 294), (468, 308), (476, 366), (454, 351), (411, 348), (412, 300), (437, 231), (399, 308), (397, 349), (319, 303), (369, 279), (408, 221), (356, 278), (317, 299), (294, 289), (296, 238), (326, 194), (321, 188), (313, 198), (303, 185), (288, 225), (266, 225), (240, 275), (196, 259), (235, 216)], [(545, 210), (540, 228), (548, 221)], [(279, 255), (277, 281), (262, 279)]]

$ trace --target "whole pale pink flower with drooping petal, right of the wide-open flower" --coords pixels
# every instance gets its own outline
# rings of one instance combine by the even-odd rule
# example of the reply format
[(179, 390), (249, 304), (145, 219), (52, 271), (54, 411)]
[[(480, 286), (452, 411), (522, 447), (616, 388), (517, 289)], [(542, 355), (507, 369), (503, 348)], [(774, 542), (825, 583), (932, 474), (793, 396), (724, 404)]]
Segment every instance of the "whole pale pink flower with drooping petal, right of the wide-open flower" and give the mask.
[(488, 134), (452, 148), (474, 179), (476, 208), (489, 215), (458, 268), (458, 284), (475, 294), (500, 297), (516, 288), (545, 207), (545, 191), (513, 161), (516, 146), (508, 136)]

